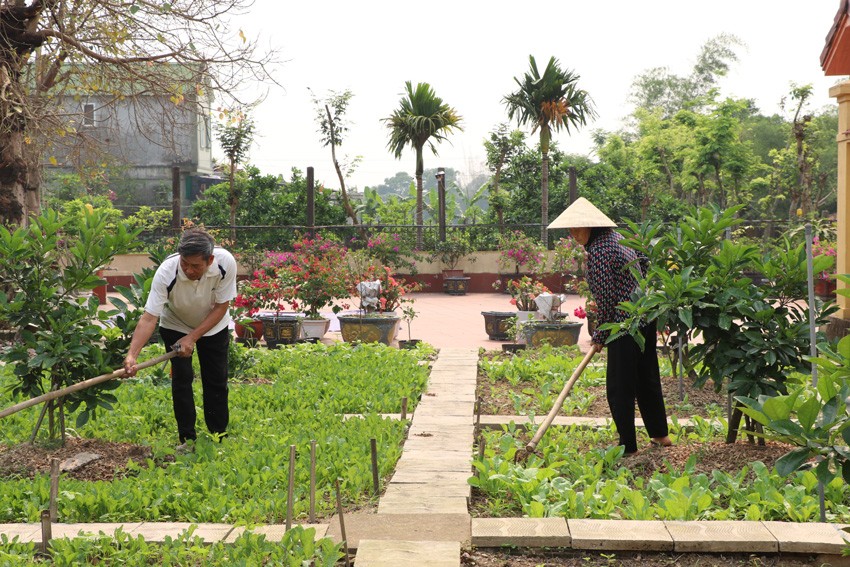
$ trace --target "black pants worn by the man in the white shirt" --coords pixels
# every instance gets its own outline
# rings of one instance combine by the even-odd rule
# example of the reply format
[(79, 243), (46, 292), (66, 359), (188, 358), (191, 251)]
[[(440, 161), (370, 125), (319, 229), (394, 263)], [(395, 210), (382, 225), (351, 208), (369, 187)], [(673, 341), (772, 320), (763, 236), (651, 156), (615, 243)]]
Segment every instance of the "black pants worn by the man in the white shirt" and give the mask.
[[(186, 333), (160, 327), (159, 334), (166, 348), (186, 336)], [(201, 366), (201, 386), (204, 392), (204, 421), (210, 433), (224, 434), (230, 421), (227, 396), (227, 352), (230, 343), (230, 330), (209, 337), (201, 337), (195, 343), (198, 362)], [(171, 399), (174, 404), (174, 417), (177, 420), (177, 434), (180, 442), (195, 439), (195, 396), (192, 392), (192, 358), (174, 357), (171, 359)]]

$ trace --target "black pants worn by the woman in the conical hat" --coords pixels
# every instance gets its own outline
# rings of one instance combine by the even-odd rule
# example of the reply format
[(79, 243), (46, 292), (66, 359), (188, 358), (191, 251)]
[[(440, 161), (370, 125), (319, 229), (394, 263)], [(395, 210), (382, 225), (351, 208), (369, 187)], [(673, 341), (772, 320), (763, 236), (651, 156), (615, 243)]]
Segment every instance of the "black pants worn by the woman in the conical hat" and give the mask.
[(661, 375), (655, 349), (655, 323), (641, 329), (646, 348), (641, 352), (635, 340), (626, 335), (608, 344), (606, 389), (608, 407), (617, 425), (620, 445), (626, 453), (637, 451), (635, 400), (650, 437), (667, 436), (667, 411), (661, 393)]

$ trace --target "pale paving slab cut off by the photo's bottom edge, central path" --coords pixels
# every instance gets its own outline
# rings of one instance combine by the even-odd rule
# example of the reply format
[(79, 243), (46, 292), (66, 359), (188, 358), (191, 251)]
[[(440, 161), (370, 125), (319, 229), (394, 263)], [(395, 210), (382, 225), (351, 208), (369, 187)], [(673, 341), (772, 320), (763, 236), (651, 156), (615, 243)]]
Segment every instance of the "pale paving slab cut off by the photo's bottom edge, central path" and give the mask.
[(459, 567), (460, 543), (363, 540), (357, 567)]

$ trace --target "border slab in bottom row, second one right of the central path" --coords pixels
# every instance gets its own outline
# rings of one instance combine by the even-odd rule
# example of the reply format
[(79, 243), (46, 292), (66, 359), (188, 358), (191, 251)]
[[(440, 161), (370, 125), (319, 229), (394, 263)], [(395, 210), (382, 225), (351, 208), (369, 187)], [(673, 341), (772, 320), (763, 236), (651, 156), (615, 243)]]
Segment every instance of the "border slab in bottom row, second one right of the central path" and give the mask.
[(575, 549), (672, 551), (664, 522), (646, 520), (567, 520)]

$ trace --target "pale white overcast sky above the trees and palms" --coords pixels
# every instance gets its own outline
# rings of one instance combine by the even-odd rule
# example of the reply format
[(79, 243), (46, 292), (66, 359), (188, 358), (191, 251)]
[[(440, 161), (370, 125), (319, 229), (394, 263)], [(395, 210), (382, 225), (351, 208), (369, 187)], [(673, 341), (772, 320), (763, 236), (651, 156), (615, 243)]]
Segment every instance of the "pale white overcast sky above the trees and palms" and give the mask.
[[(556, 136), (560, 148), (588, 154), (594, 129), (616, 130), (631, 112), (636, 75), (667, 67), (687, 75), (700, 47), (729, 33), (745, 44), (721, 82), (724, 96), (753, 98), (764, 113), (779, 112), (790, 83), (812, 83), (813, 108), (834, 104), (820, 54), (839, 0), (560, 0), (429, 2), (256, 0), (238, 25), (261, 46), (280, 51), (275, 76), (256, 109), (257, 137), (249, 161), (263, 173), (289, 176), (315, 168), (316, 179), (338, 185), (316, 133), (308, 87), (324, 96), (350, 89), (351, 131), (343, 155), (362, 156), (349, 185), (377, 185), (398, 171), (413, 173), (415, 157), (387, 151), (382, 118), (398, 106), (405, 81), (427, 82), (463, 117), (464, 131), (426, 151), (425, 167), (452, 167), (466, 179), (485, 171), (482, 141), (507, 120), (502, 98), (528, 56), (550, 56), (581, 77), (599, 117), (577, 134)], [(846, 77), (845, 77), (846, 78)], [(220, 153), (220, 152), (219, 152)]]

